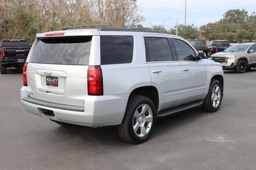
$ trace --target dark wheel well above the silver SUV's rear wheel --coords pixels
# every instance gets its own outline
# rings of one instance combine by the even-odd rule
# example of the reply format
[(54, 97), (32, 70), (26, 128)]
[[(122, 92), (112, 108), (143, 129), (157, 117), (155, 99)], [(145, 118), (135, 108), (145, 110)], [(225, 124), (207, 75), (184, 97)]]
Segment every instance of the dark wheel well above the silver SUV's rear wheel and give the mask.
[(136, 88), (134, 90), (132, 90), (129, 99), (131, 96), (134, 95), (142, 95), (142, 96), (146, 96), (148, 98), (150, 98), (150, 100), (152, 100), (156, 111), (158, 109), (158, 105), (159, 105), (159, 97), (158, 97), (158, 90), (156, 89), (156, 87), (154, 86), (143, 86), (143, 87), (139, 87)]

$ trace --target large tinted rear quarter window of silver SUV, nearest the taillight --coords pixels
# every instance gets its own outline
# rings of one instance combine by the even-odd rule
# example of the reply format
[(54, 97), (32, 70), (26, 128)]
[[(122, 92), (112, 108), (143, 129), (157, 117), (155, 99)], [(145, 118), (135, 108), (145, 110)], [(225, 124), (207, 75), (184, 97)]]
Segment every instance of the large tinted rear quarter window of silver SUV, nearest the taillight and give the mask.
[(132, 63), (132, 35), (101, 35), (100, 64)]

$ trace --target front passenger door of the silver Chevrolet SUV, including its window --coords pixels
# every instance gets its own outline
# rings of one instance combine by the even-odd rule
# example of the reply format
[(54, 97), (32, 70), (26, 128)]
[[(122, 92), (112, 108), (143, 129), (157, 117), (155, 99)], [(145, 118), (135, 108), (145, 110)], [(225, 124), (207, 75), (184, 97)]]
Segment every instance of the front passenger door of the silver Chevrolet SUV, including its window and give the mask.
[(182, 94), (180, 104), (203, 98), (206, 92), (206, 64), (195, 61), (195, 51), (182, 39), (172, 39), (176, 57), (182, 71)]

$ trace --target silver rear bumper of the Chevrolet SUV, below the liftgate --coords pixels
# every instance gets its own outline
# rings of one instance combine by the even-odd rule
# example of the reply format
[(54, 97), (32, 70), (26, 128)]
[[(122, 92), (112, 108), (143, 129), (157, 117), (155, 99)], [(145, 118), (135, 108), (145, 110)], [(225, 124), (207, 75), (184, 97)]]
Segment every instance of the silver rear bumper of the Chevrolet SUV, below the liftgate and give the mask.
[[(85, 107), (76, 107), (41, 100), (28, 100), (27, 87), (23, 86), (20, 89), (20, 100), (26, 111), (47, 119), (90, 127), (121, 124), (128, 97), (129, 93), (88, 96)], [(84, 111), (82, 111), (83, 108)], [(52, 110), (55, 116), (43, 115), (42, 109)]]

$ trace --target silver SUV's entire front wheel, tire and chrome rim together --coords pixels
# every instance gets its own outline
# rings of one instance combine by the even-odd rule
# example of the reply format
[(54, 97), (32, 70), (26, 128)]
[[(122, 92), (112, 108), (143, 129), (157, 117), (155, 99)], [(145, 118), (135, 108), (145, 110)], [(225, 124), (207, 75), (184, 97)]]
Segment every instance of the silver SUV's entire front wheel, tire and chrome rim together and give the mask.
[(208, 94), (204, 99), (204, 103), (202, 104), (202, 108), (204, 111), (215, 112), (220, 108), (220, 104), (222, 101), (222, 86), (218, 80), (212, 80)]

